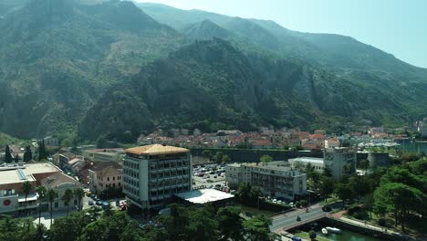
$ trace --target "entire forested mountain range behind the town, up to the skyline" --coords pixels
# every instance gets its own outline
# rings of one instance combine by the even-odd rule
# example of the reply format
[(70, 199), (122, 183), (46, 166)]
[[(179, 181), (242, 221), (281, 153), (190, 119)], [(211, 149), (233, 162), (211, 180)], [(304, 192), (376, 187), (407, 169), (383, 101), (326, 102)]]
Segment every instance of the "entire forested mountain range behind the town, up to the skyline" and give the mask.
[(351, 37), (118, 0), (0, 6), (0, 131), (16, 137), (339, 131), (427, 115), (427, 70)]

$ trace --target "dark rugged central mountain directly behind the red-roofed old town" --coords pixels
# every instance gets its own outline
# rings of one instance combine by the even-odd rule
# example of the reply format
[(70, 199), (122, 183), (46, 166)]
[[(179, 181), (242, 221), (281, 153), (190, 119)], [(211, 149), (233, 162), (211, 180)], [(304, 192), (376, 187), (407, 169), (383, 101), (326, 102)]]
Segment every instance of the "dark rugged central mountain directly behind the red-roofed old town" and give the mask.
[(404, 121), (404, 106), (377, 91), (286, 59), (246, 56), (224, 40), (197, 41), (110, 89), (79, 134), (123, 140), (160, 127), (250, 131), (321, 124), (337, 130), (345, 121)]

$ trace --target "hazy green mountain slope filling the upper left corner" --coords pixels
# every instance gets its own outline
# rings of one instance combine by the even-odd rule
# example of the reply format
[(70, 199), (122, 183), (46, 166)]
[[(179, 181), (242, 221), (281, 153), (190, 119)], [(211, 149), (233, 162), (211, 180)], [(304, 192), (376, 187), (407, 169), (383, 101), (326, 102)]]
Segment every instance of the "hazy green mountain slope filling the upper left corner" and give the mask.
[(110, 85), (167, 56), (180, 36), (130, 2), (31, 0), (0, 21), (0, 131), (77, 123)]

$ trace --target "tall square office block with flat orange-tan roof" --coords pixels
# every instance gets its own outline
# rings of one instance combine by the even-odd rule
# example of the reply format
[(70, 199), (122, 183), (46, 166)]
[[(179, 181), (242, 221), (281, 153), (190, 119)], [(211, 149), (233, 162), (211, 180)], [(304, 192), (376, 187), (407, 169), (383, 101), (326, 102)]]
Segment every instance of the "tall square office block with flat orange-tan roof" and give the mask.
[(141, 208), (157, 208), (192, 190), (190, 150), (152, 144), (126, 150), (123, 193)]

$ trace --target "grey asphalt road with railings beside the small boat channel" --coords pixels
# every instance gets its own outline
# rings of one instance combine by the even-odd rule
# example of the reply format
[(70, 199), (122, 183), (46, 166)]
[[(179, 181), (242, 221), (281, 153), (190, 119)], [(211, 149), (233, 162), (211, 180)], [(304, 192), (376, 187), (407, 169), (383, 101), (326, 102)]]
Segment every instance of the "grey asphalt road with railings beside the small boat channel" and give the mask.
[[(319, 205), (311, 206), (309, 212), (306, 212), (306, 209), (300, 209), (291, 213), (286, 213), (284, 215), (277, 215), (273, 217), (272, 225), (270, 225), (270, 230), (275, 232), (277, 230), (282, 230), (286, 226), (295, 225), (298, 222), (304, 222), (308, 219), (313, 219), (326, 213), (323, 212), (322, 207)], [(301, 221), (297, 221), (297, 216), (301, 218)]]

